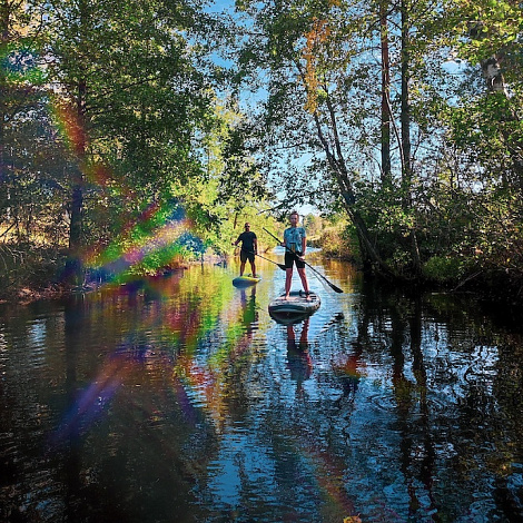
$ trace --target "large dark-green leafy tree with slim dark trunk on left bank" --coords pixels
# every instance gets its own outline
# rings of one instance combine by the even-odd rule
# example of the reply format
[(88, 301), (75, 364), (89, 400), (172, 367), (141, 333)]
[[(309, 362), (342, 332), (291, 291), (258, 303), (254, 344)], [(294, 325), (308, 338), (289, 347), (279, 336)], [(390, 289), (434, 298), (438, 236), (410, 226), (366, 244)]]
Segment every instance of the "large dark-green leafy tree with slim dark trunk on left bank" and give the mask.
[[(198, 150), (214, 125), (213, 73), (208, 49), (191, 39), (205, 28), (208, 41), (217, 26), (205, 27), (190, 1), (53, 0), (47, 9), (51, 97), (75, 158), (69, 249), (78, 283), (86, 213), (97, 200), (119, 201), (118, 215), (131, 218), (204, 178)], [(92, 182), (97, 172), (102, 185)]]

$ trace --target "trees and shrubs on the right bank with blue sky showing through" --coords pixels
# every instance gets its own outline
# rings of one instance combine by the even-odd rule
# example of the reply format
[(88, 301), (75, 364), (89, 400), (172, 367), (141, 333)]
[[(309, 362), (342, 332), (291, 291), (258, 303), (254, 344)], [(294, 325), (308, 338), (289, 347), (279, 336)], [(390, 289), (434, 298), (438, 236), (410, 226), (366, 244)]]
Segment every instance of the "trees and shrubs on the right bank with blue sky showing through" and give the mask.
[(238, 62), (267, 86), (259, 150), (286, 157), (289, 200), (346, 213), (369, 269), (521, 277), (521, 2), (237, 6)]

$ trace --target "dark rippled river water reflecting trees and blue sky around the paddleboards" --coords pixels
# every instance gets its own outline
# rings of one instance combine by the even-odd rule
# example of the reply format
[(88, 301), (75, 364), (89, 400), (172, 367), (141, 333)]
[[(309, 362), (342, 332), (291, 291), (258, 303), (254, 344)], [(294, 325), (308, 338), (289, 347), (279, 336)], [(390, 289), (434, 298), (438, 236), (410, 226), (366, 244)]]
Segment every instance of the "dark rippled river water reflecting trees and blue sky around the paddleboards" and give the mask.
[(523, 521), (521, 327), (315, 266), (294, 326), (263, 262), (2, 306), (0, 520)]

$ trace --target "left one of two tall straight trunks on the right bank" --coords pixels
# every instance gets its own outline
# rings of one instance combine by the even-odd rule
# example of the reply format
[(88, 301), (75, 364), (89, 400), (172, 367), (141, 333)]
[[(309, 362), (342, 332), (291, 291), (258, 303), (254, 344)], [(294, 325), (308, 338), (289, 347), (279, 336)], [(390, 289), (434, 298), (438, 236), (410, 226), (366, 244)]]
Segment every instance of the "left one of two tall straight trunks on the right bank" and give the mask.
[(379, 28), (382, 48), (382, 184), (392, 185), (391, 176), (391, 61), (388, 53), (388, 1), (379, 2)]

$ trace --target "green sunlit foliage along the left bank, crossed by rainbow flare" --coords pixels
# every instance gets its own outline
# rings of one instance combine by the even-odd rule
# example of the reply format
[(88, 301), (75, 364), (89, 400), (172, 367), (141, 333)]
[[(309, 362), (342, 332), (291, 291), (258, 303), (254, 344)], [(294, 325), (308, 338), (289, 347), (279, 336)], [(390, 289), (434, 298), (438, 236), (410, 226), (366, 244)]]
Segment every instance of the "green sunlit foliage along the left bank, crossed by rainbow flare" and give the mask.
[[(221, 224), (267, 195), (241, 144), (241, 115), (224, 110), (215, 95), (225, 76), (214, 53), (229, 28), (191, 0), (33, 7), (40, 28), (29, 9), (12, 12), (33, 48), (22, 52), (13, 37), (0, 69), (10, 88), (1, 98), (8, 167), (0, 233), (67, 245), (79, 189), (81, 250), (92, 270), (151, 274), (199, 258), (210, 245), (229, 250)], [(32, 27), (38, 40), (29, 38)], [(187, 230), (166, 243), (172, 203)]]

